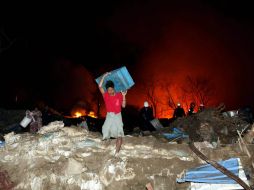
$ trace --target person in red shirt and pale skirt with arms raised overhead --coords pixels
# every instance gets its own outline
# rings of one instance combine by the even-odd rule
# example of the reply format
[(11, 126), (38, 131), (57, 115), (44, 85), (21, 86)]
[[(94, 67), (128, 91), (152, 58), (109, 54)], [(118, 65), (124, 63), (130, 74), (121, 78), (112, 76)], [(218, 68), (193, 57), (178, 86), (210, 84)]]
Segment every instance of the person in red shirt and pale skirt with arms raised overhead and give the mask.
[(126, 92), (116, 92), (114, 88), (114, 82), (109, 80), (106, 82), (106, 91), (104, 91), (102, 85), (104, 79), (110, 73), (105, 73), (99, 83), (100, 92), (103, 95), (103, 99), (106, 105), (107, 115), (106, 120), (102, 126), (103, 140), (110, 139), (111, 137), (116, 138), (116, 150), (115, 156), (118, 155), (124, 137), (123, 121), (121, 108), (126, 106)]

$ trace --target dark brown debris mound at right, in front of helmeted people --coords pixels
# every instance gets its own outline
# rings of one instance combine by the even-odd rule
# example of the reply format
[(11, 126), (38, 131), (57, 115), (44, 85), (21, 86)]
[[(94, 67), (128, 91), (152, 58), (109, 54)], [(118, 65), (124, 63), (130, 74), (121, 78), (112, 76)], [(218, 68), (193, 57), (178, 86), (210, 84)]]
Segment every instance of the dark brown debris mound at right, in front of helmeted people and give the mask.
[(181, 128), (193, 141), (216, 142), (218, 138), (225, 144), (235, 143), (238, 131), (250, 127), (242, 117), (225, 117), (220, 108), (207, 108), (190, 117), (178, 118), (171, 127)]

